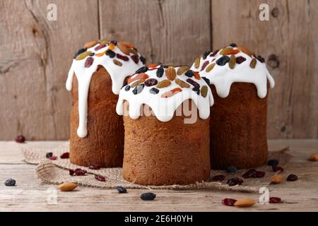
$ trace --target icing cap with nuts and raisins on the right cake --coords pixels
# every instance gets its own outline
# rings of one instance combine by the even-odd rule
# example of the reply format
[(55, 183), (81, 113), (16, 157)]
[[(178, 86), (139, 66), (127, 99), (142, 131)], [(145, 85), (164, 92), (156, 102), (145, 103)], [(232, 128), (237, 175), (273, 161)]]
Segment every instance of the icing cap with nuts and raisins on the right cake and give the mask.
[(228, 47), (205, 52), (201, 57), (197, 57), (192, 70), (209, 78), (220, 97), (229, 95), (232, 83), (242, 82), (254, 83), (259, 97), (264, 98), (267, 95), (267, 81), (271, 88), (275, 85), (264, 63), (263, 57), (232, 43)]

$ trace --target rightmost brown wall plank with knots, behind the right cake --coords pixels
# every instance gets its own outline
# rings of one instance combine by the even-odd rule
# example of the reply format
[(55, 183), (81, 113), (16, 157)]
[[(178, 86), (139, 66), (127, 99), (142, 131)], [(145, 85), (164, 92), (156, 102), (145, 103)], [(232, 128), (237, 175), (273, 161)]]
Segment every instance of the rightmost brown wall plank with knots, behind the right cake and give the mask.
[[(269, 21), (259, 20), (261, 3), (269, 5)], [(317, 138), (318, 2), (212, 0), (211, 7), (213, 49), (236, 42), (270, 65), (276, 87), (269, 95), (269, 138)], [(278, 66), (269, 61), (271, 55)]]

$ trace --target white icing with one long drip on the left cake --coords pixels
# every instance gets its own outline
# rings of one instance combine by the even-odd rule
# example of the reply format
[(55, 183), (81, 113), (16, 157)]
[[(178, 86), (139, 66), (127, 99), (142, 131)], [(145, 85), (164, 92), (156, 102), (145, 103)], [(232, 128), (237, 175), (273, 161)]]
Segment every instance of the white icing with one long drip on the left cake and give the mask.
[[(91, 51), (94, 54), (99, 54), (105, 52), (108, 49), (109, 45), (106, 47), (95, 51), (95, 47), (98, 47), (100, 44), (96, 44), (93, 47), (87, 49), (87, 51)], [(120, 49), (115, 46), (113, 50), (116, 54), (121, 54), (122, 56), (129, 57), (124, 54)], [(133, 54), (130, 54), (130, 56)], [(139, 54), (140, 57), (140, 54)], [(112, 79), (112, 92), (114, 94), (119, 94), (119, 90), (122, 88), (124, 83), (124, 79), (127, 76), (131, 76), (135, 73), (137, 69), (143, 66), (143, 63), (139, 59), (138, 64), (136, 64), (131, 57), (129, 57), (128, 61), (123, 61), (122, 59), (118, 59), (117, 57), (110, 58), (106, 54), (103, 54), (102, 57), (98, 57), (96, 55), (93, 56), (93, 64), (86, 68), (85, 67), (85, 59), (76, 60), (73, 59), (73, 63), (71, 65), (71, 69), (69, 69), (69, 75), (66, 80), (66, 89), (72, 90), (73, 76), (74, 73), (78, 80), (78, 129), (77, 134), (79, 137), (84, 138), (87, 136), (87, 114), (88, 114), (88, 91), (90, 87), (90, 80), (93, 76), (93, 73), (98, 69), (98, 66), (103, 66), (108, 73), (110, 73), (110, 78)], [(122, 66), (117, 66), (114, 64), (113, 59), (120, 61)]]

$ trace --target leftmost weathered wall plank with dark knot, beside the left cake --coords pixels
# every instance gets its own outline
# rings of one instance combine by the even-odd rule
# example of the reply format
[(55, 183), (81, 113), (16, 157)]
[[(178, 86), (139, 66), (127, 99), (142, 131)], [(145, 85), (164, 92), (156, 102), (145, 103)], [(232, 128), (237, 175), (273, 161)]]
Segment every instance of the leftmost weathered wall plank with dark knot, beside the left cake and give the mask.
[[(57, 21), (47, 20), (50, 3)], [(0, 30), (1, 140), (67, 139), (64, 83), (73, 52), (98, 39), (97, 0), (0, 1)]]

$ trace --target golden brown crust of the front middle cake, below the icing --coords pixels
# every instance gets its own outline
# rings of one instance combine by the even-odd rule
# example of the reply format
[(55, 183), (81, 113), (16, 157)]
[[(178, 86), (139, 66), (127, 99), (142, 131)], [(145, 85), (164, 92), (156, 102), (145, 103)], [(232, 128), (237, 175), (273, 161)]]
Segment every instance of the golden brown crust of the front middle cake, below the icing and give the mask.
[(183, 116), (124, 116), (123, 177), (145, 185), (191, 184), (210, 175), (209, 119), (184, 124)]

